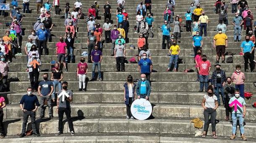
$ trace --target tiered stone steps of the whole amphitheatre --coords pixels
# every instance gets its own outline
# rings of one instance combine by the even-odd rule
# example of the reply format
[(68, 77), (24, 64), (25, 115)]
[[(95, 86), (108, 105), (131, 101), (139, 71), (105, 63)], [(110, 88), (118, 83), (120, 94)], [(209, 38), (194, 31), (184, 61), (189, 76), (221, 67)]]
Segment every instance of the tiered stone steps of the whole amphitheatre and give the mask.
[[(7, 0), (10, 3), (11, 0)], [(217, 33), (216, 26), (218, 24), (218, 15), (214, 14), (214, 1), (215, 0), (201, 0), (201, 7), (205, 10), (206, 15), (210, 19), (210, 23), (207, 27), (207, 37), (204, 37), (203, 54), (207, 55), (212, 63), (212, 69), (214, 70), (215, 49), (213, 49), (213, 37)], [(254, 2), (253, 2), (254, 1)], [(112, 20), (114, 24), (115, 9), (117, 7), (116, 0), (109, 0), (112, 6)], [(30, 86), (28, 81), (28, 73), (26, 70), (26, 56), (17, 55), (16, 59), (10, 63), (9, 77), (18, 77), (21, 82), (11, 82), (10, 90), (15, 92), (11, 94), (3, 94), (8, 102), (7, 107), (4, 108), (4, 125), (6, 139), (0, 139), (8, 143), (12, 142), (24, 142), (24, 143), (43, 143), (45, 140), (61, 143), (78, 143), (78, 142), (90, 142), (90, 143), (213, 143), (213, 142), (227, 142), (231, 143), (229, 136), (232, 134), (232, 125), (225, 121), (225, 108), (221, 105), (217, 109), (217, 119), (220, 122), (216, 125), (217, 135), (219, 139), (209, 139), (212, 131), (209, 127), (209, 133), (207, 139), (194, 137), (195, 131), (193, 123), (190, 120), (199, 117), (203, 120), (203, 108), (201, 107), (201, 100), (205, 93), (198, 93), (199, 82), (196, 82), (197, 73), (184, 73), (184, 69), (194, 69), (194, 59), (192, 49), (191, 32), (185, 32), (185, 19), (184, 14), (189, 7), (191, 0), (175, 0), (175, 15), (182, 16), (183, 23), (181, 30), (181, 43), (178, 45), (181, 48), (180, 58), (183, 59), (185, 64), (180, 64), (178, 72), (165, 72), (169, 64), (170, 57), (167, 56), (168, 49), (162, 50), (162, 32), (158, 27), (163, 24), (163, 9), (167, 0), (152, 1), (152, 13), (154, 13), (154, 38), (149, 38), (149, 50), (152, 52), (153, 69), (158, 72), (152, 73), (152, 94), (150, 95), (150, 102), (153, 105), (152, 117), (149, 120), (125, 120), (126, 107), (123, 102), (123, 84), (129, 74), (134, 79), (139, 78), (137, 64), (126, 64), (125, 72), (115, 72), (116, 64), (115, 59), (110, 56), (111, 43), (104, 43), (105, 49), (103, 50), (102, 59), (102, 82), (88, 82), (86, 81), (86, 92), (78, 92), (78, 78), (76, 77), (77, 64), (68, 64), (68, 72), (64, 72), (63, 81), (68, 82), (68, 89), (73, 90), (74, 97), (71, 103), (71, 117), (73, 118), (74, 130), (76, 132), (75, 137), (70, 137), (67, 123), (64, 124), (63, 133), (60, 137), (52, 137), (53, 133), (57, 133), (57, 112), (54, 107), (54, 118), (48, 120), (47, 118), (37, 120), (37, 128), (39, 133), (42, 134), (39, 138), (17, 138), (17, 134), (21, 133), (22, 128), (22, 111), (19, 108), (19, 101), (21, 97), (26, 94), (26, 88)], [(52, 3), (52, 2), (50, 2)], [(70, 5), (73, 6), (74, 0), (71, 0)], [(87, 13), (88, 8), (94, 0), (81, 0), (83, 4), (83, 11)], [(130, 29), (128, 33), (129, 43), (126, 48), (127, 59), (138, 54), (138, 50), (131, 50), (128, 47), (133, 44), (136, 45), (138, 39), (138, 33), (134, 33), (135, 30), (135, 16), (138, 0), (126, 0), (125, 9), (129, 14)], [(103, 26), (104, 16), (102, 13), (103, 5), (105, 1), (99, 1), (101, 11), (99, 15), (102, 16), (102, 20), (96, 20), (96, 23), (100, 23)], [(236, 53), (234, 56), (233, 64), (221, 64), (222, 69), (226, 71), (227, 76), (231, 76), (235, 70), (236, 64), (241, 64), (242, 71), (244, 66), (243, 57), (239, 56), (241, 42), (233, 42), (233, 26), (231, 24), (234, 15), (231, 13), (231, 5), (228, 10), (229, 26), (226, 32), (229, 38), (229, 47), (227, 51)], [(248, 0), (249, 6), (252, 8), (255, 4), (255, 0)], [(19, 1), (19, 7), (22, 7), (22, 3)], [(63, 10), (65, 1), (60, 2), (60, 8)], [(29, 9), (32, 13), (24, 13), (22, 27), (26, 28), (25, 36), (23, 36), (22, 53), (24, 54), (24, 46), (26, 44), (27, 36), (30, 35), (30, 30), (33, 29), (32, 23), (36, 21), (39, 16), (36, 14), (36, 4), (30, 3)], [(256, 11), (252, 10), (252, 14), (256, 15)], [(22, 11), (22, 10), (21, 10)], [(63, 12), (60, 15), (64, 15)], [(41, 56), (42, 69), (50, 69), (50, 61), (57, 60), (55, 56), (55, 44), (58, 41), (59, 36), (64, 36), (65, 26), (64, 19), (60, 19), (60, 15), (55, 15), (54, 8), (52, 9), (52, 22), (56, 24), (56, 27), (52, 28), (53, 42), (48, 42), (49, 56)], [(7, 30), (5, 23), (10, 22), (10, 16), (0, 18), (0, 37), (3, 37), (4, 31)], [(76, 40), (80, 43), (75, 43), (74, 53), (77, 53), (75, 57), (78, 62), (83, 51), (82, 49), (87, 47), (87, 28), (85, 20), (78, 20), (78, 33)], [(113, 26), (113, 25), (112, 25)], [(172, 26), (172, 25), (171, 25)], [(172, 26), (173, 27), (173, 26)], [(173, 31), (173, 29), (172, 29)], [(244, 39), (245, 31), (242, 31), (242, 39)], [(104, 39), (104, 33), (102, 34)], [(86, 57), (87, 59), (87, 57)], [(91, 64), (89, 66), (89, 73), (87, 77), (91, 79)], [(42, 75), (44, 72), (40, 72)], [(50, 74), (50, 72), (48, 72)], [(253, 82), (256, 81), (255, 72), (246, 72), (245, 91), (256, 93), (256, 87), (253, 86)], [(39, 77), (42, 80), (42, 76)], [(253, 96), (247, 100), (247, 114), (246, 114), (246, 126), (245, 135), (248, 137), (249, 142), (256, 141), (256, 110), (251, 107), (251, 104), (256, 101), (256, 97)], [(45, 117), (48, 116), (48, 110), (45, 111)], [(37, 117), (39, 117), (39, 111), (37, 111)], [(31, 125), (29, 124), (29, 128)], [(240, 131), (237, 131), (239, 136)], [(239, 140), (240, 138), (236, 138)], [(238, 141), (232, 141), (232, 143)]]

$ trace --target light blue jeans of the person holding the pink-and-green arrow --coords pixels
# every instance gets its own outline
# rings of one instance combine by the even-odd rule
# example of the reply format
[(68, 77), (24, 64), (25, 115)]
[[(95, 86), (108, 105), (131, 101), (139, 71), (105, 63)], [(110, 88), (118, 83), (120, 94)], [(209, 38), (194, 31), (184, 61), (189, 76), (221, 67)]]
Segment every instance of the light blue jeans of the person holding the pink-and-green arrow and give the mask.
[(244, 127), (243, 127), (243, 114), (237, 114), (237, 113), (232, 113), (232, 133), (235, 134), (236, 132), (236, 123), (237, 120), (239, 120), (239, 128), (240, 128), (240, 133), (244, 134)]

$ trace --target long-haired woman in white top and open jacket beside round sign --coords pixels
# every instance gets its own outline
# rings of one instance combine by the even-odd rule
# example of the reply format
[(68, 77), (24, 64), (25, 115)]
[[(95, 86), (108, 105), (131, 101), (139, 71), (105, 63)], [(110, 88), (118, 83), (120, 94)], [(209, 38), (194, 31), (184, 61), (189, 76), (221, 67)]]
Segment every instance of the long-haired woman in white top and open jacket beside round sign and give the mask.
[(124, 101), (126, 105), (126, 120), (130, 119), (133, 120), (133, 115), (131, 114), (131, 104), (134, 100), (136, 100), (135, 97), (135, 90), (136, 90), (136, 84), (133, 82), (133, 76), (128, 75), (127, 81), (123, 85), (124, 87)]

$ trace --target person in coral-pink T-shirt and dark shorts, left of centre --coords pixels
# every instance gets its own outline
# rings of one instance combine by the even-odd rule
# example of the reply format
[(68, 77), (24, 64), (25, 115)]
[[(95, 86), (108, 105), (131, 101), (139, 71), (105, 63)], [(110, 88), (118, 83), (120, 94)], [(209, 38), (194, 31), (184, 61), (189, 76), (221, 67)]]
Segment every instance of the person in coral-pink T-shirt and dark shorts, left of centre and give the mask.
[(58, 63), (61, 64), (63, 61), (64, 70), (68, 71), (65, 57), (67, 57), (67, 44), (63, 41), (63, 37), (59, 38), (60, 42), (56, 43), (56, 56), (58, 58)]

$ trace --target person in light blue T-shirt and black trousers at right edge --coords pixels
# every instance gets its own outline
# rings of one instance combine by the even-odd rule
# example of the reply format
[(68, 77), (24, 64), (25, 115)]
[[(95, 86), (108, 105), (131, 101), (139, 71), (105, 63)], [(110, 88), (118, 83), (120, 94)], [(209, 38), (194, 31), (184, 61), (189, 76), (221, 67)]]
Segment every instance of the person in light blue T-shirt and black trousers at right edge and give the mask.
[(243, 58), (244, 58), (244, 70), (246, 71), (248, 69), (248, 60), (250, 60), (250, 69), (251, 72), (253, 72), (253, 69), (255, 67), (255, 62), (253, 61), (253, 50), (254, 50), (254, 44), (252, 41), (250, 41), (250, 36), (246, 35), (246, 41), (243, 41), (241, 44), (241, 51), (243, 52)]

